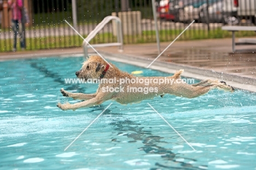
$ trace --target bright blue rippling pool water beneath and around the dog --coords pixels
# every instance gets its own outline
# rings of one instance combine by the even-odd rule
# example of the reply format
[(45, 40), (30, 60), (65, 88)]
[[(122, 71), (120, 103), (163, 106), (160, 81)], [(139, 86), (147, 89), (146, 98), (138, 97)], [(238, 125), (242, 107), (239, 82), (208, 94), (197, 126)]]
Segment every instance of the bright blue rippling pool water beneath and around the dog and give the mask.
[[(255, 93), (213, 90), (193, 99), (165, 95), (138, 104), (107, 101), (62, 111), (58, 101), (75, 102), (61, 95), (62, 87), (85, 93), (97, 89), (95, 84), (65, 84), (82, 62), (82, 57), (0, 62), (0, 169), (256, 169)], [(170, 75), (113, 63), (143, 76)]]

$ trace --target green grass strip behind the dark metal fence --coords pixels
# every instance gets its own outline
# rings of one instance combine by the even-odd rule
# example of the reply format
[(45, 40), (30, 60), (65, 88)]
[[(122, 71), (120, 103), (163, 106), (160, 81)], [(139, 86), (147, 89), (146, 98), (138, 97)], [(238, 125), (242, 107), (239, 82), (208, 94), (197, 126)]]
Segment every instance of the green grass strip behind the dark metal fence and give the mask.
[[(175, 39), (183, 30), (161, 30), (160, 42), (170, 42)], [(252, 37), (256, 36), (254, 31), (238, 31), (235, 33), (236, 37)], [(87, 35), (82, 35), (86, 37)], [(223, 31), (221, 28), (216, 30), (187, 30), (177, 40), (196, 40), (208, 38), (231, 38), (230, 31)], [(154, 43), (156, 42), (155, 31), (143, 31), (141, 35), (124, 36), (124, 44), (136, 43)], [(97, 34), (90, 44), (99, 43), (114, 43), (117, 42), (117, 37), (112, 33)], [(74, 46), (82, 46), (83, 39), (78, 35), (75, 36), (57, 36), (57, 37), (40, 37), (40, 38), (26, 38), (26, 50), (39, 49), (55, 49), (55, 48), (69, 48)], [(13, 39), (0, 39), (0, 52), (11, 51)], [(18, 45), (18, 50), (19, 45)]]

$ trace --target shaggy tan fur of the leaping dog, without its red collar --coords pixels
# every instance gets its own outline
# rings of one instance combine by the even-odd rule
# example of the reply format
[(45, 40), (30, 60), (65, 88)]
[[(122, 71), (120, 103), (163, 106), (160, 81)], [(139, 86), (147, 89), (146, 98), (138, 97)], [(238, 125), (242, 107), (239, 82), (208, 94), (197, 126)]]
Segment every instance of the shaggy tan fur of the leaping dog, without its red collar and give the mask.
[[(113, 79), (115, 78), (129, 78), (129, 79), (136, 79), (134, 75), (131, 75), (129, 73), (120, 71), (117, 67), (115, 67), (112, 63), (110, 65), (113, 67), (109, 67), (108, 71), (104, 75), (104, 79)], [(104, 69), (107, 66), (107, 62), (104, 61), (100, 56), (91, 56), (88, 58), (87, 61), (83, 63), (82, 69), (80, 71), (76, 72), (75, 74), (79, 79), (98, 79)], [(181, 74), (183, 70), (177, 71), (174, 75), (171, 77), (167, 77), (168, 79), (180, 79)], [(146, 79), (146, 78), (154, 78), (154, 77), (140, 77), (140, 79)], [(155, 78), (162, 78), (165, 77), (155, 77)], [(187, 98), (194, 98), (201, 96), (208, 91), (212, 89), (223, 89), (225, 91), (233, 92), (234, 89), (226, 85), (224, 81), (218, 81), (218, 80), (203, 80), (200, 83), (189, 85), (187, 83), (174, 83), (173, 84), (149, 84), (146, 86), (145, 84), (122, 84), (121, 86), (124, 87), (124, 92), (103, 92), (103, 87), (119, 87), (120, 84), (117, 82), (116, 84), (99, 84), (98, 89), (96, 93), (94, 94), (84, 94), (84, 93), (71, 93), (68, 91), (65, 91), (61, 89), (61, 93), (65, 97), (72, 97), (73, 99), (79, 99), (83, 100), (82, 102), (78, 102), (75, 104), (70, 103), (57, 103), (57, 107), (59, 107), (62, 110), (68, 110), (68, 109), (78, 109), (83, 107), (93, 107), (94, 105), (99, 105), (104, 101), (107, 101), (109, 99), (112, 99), (114, 101), (117, 101), (121, 104), (128, 104), (128, 103), (136, 103), (140, 102), (144, 99), (152, 99), (156, 96), (164, 96), (165, 94), (170, 95), (176, 95), (181, 97), (187, 97)], [(127, 88), (131, 87), (157, 87), (158, 92), (148, 92), (147, 94), (143, 92), (127, 92)]]

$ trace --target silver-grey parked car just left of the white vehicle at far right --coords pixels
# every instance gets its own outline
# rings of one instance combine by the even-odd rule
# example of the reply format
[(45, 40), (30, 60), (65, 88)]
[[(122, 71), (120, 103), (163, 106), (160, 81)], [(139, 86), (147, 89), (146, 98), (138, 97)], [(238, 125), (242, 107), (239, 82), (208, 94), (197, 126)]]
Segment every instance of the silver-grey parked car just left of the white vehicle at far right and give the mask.
[(216, 0), (212, 4), (203, 4), (200, 7), (200, 21), (201, 22), (222, 22), (224, 24), (238, 24), (237, 7), (232, 2), (233, 0)]

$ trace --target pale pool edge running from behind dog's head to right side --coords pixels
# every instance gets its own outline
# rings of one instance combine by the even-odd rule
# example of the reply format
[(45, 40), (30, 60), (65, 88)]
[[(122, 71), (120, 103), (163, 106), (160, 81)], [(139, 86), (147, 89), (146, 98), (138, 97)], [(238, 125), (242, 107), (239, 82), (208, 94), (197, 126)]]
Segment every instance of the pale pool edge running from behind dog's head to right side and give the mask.
[[(145, 57), (133, 56), (127, 54), (113, 54), (106, 51), (98, 51), (103, 54), (105, 58), (112, 61), (128, 63), (130, 65), (147, 68), (153, 60), (147, 60)], [(81, 54), (83, 55), (83, 54)], [(175, 73), (179, 69), (184, 69), (182, 75), (188, 78), (195, 78), (199, 80), (213, 79), (223, 80), (228, 85), (233, 86), (236, 89), (248, 90), (256, 92), (256, 79), (242, 77), (240, 75), (228, 74), (223, 72), (216, 72), (209, 69), (201, 69), (197, 67), (181, 65), (171, 62), (155, 61), (149, 69), (155, 69), (165, 73)], [(245, 83), (243, 83), (245, 82)]]

